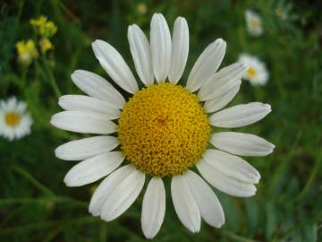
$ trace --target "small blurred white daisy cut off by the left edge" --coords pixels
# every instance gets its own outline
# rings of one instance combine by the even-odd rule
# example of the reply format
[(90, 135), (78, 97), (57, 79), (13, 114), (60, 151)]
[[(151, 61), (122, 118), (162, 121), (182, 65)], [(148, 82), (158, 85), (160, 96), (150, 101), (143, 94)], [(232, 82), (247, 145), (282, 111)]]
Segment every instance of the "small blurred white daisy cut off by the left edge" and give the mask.
[(30, 134), (32, 118), (26, 108), (15, 97), (0, 102), (0, 135), (13, 141)]

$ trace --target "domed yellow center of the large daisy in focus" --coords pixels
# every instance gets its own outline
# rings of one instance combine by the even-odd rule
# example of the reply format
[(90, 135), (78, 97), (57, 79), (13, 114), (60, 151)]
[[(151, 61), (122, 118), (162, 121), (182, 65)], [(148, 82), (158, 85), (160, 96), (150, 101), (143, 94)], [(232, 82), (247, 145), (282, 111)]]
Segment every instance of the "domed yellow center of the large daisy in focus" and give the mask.
[(180, 174), (208, 145), (210, 126), (199, 99), (182, 86), (159, 83), (124, 106), (118, 138), (127, 158), (151, 176)]

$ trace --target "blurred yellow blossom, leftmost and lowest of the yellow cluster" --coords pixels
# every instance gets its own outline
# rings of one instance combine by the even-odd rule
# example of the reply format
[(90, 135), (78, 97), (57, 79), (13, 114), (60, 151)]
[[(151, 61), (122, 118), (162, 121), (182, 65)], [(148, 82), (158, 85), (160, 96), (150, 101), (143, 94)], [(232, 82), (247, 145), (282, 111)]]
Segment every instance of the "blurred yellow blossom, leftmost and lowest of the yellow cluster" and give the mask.
[(32, 59), (38, 57), (38, 51), (35, 42), (32, 39), (17, 42), (16, 48), (18, 52), (18, 61), (23, 65), (30, 65)]

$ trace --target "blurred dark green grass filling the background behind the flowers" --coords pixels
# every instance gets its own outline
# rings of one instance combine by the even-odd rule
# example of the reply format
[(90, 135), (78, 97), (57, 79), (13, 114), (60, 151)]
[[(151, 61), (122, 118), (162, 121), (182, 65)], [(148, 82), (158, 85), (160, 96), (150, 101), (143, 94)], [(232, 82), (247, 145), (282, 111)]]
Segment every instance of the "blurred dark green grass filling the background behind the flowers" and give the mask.
[[(139, 4), (146, 5), (146, 13)], [(251, 38), (245, 30), (244, 12), (249, 8), (263, 18), (265, 32), (259, 38)], [(87, 211), (92, 186), (64, 186), (64, 174), (71, 165), (55, 159), (54, 149), (79, 135), (55, 129), (49, 119), (59, 110), (59, 91), (80, 92), (70, 79), (75, 69), (107, 78), (92, 54), (91, 41), (105, 39), (114, 45), (134, 70), (127, 26), (136, 22), (148, 33), (156, 12), (165, 14), (171, 28), (177, 15), (189, 23), (191, 51), (183, 80), (216, 38), (227, 41), (223, 65), (243, 52), (266, 62), (267, 86), (243, 82), (233, 103), (258, 100), (272, 105), (266, 119), (239, 130), (267, 138), (276, 149), (268, 157), (248, 159), (262, 175), (256, 196), (238, 199), (216, 192), (225, 210), (223, 229), (203, 223), (199, 234), (191, 234), (177, 219), (167, 194), (165, 222), (154, 240), (321, 241), (321, 8), (319, 1), (300, 0), (2, 2), (0, 98), (16, 95), (26, 100), (35, 124), (32, 134), (20, 141), (0, 140), (0, 241), (144, 240), (141, 196), (121, 218), (106, 223)], [(288, 18), (282, 19), (276, 9), (284, 10)], [(55, 50), (23, 69), (16, 62), (15, 43), (37, 39), (29, 20), (40, 14), (58, 26), (52, 39)]]

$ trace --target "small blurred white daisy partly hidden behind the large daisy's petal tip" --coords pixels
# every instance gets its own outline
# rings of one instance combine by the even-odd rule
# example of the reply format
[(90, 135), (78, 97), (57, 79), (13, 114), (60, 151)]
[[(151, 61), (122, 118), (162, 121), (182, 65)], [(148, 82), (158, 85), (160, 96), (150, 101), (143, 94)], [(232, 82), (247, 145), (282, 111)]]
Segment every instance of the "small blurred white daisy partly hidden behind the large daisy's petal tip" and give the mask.
[(267, 83), (269, 77), (267, 67), (258, 57), (242, 54), (239, 57), (239, 61), (249, 66), (242, 78), (250, 81), (250, 84), (253, 86), (263, 86)]

